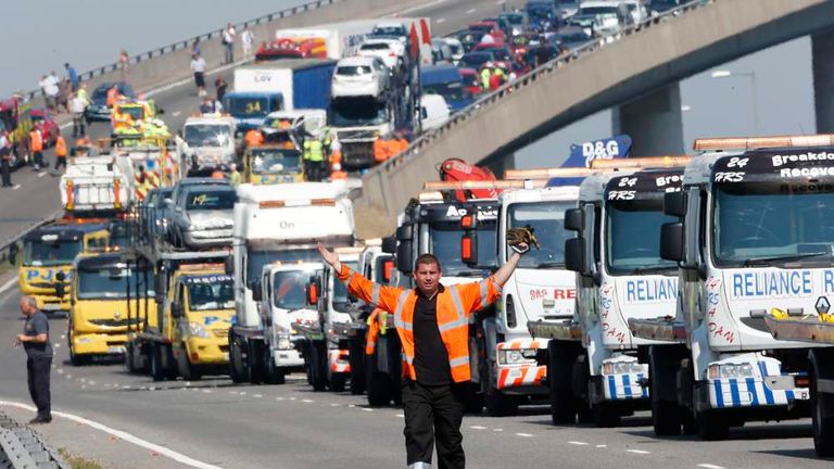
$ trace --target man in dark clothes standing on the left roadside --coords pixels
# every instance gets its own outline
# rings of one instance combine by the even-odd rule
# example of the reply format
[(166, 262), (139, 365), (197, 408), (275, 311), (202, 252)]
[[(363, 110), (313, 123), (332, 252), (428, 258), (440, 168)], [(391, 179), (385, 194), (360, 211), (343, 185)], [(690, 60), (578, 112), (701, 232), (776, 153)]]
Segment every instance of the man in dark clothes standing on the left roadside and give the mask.
[(52, 344), (49, 341), (49, 320), (31, 296), (21, 299), (21, 313), (26, 317), (23, 333), (17, 334), (15, 345), (23, 344), (26, 351), (26, 375), (29, 395), (38, 415), (29, 423), (52, 421), (52, 406), (49, 391), (49, 371), (52, 367)]

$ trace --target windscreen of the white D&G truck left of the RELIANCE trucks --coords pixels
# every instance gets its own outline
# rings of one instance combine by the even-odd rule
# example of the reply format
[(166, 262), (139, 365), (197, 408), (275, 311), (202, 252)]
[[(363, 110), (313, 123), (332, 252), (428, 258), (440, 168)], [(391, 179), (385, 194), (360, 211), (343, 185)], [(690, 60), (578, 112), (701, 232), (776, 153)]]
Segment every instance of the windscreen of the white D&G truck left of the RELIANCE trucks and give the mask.
[[(570, 202), (517, 203), (507, 207), (507, 228), (530, 225), (535, 230), (541, 249), (531, 249), (521, 256), (519, 268), (561, 268), (565, 266), (565, 241), (572, 233), (565, 230), (565, 211)], [(508, 249), (507, 253), (511, 251)]]

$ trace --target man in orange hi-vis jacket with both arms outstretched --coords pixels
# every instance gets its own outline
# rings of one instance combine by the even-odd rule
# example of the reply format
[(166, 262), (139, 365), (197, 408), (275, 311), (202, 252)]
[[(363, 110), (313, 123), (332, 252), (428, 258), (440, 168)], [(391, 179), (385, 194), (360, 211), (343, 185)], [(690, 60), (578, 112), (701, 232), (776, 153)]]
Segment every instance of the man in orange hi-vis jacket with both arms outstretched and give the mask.
[[(345, 282), (348, 291), (394, 315), (403, 345), (403, 405), (405, 448), (409, 469), (431, 467), (437, 442), (438, 466), (463, 469), (466, 457), (460, 422), (469, 372), (469, 315), (501, 297), (501, 288), (513, 275), (526, 243), (492, 276), (472, 283), (444, 287), (440, 261), (422, 254), (414, 265), (415, 289), (374, 283), (339, 262), (339, 255), (318, 244), (325, 262)], [(437, 432), (437, 434), (435, 434)]]

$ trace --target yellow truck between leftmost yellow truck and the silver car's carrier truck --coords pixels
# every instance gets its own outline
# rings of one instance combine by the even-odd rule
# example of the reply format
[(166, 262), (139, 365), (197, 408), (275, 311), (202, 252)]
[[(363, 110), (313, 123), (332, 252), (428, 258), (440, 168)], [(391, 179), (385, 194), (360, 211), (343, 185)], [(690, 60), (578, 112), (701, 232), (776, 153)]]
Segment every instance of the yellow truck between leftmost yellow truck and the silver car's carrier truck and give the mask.
[(121, 252), (81, 254), (71, 278), (66, 338), (73, 365), (89, 364), (93, 356), (124, 354), (128, 327), (155, 322), (155, 303), (130, 301), (131, 295), (153, 297), (149, 265), (131, 266)]

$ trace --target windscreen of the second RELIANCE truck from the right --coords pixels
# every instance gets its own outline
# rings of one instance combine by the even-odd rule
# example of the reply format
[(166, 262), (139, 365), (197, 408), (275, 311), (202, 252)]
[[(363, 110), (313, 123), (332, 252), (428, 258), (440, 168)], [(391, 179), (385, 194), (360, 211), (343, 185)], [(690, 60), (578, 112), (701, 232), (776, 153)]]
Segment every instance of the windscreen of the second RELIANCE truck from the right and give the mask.
[(609, 201), (605, 216), (606, 267), (611, 275), (673, 270), (660, 258), (660, 227), (675, 221), (662, 212), (662, 199)]

